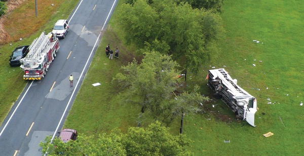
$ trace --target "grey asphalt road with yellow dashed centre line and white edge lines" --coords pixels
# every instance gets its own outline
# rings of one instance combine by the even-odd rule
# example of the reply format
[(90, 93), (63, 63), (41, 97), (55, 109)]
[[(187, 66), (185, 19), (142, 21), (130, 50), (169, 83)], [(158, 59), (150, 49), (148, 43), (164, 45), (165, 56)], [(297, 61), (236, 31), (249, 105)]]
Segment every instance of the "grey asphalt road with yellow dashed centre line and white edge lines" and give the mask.
[(39, 143), (47, 135), (58, 136), (117, 1), (81, 0), (75, 7), (46, 77), (28, 82), (0, 127), (1, 156), (42, 155)]

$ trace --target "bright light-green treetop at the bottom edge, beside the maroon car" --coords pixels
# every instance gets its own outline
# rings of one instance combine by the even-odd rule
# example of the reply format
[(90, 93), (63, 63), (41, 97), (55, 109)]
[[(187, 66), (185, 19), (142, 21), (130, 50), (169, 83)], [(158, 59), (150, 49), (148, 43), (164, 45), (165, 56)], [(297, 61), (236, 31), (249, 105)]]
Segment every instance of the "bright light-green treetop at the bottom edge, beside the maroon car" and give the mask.
[(51, 143), (52, 136), (47, 136), (40, 146), (43, 154), (47, 151), (48, 155), (126, 155), (122, 136), (120, 131), (113, 131), (109, 135), (79, 135), (76, 141), (70, 140), (66, 143), (57, 137)]

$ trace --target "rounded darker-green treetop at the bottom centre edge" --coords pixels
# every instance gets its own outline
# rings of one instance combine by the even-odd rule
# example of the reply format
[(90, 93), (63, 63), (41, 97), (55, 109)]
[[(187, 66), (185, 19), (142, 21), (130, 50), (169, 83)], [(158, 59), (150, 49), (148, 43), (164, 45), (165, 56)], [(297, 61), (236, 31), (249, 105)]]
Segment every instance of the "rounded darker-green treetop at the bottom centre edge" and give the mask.
[(127, 155), (191, 155), (184, 149), (189, 140), (184, 135), (173, 136), (169, 129), (156, 122), (147, 128), (132, 127), (125, 136)]

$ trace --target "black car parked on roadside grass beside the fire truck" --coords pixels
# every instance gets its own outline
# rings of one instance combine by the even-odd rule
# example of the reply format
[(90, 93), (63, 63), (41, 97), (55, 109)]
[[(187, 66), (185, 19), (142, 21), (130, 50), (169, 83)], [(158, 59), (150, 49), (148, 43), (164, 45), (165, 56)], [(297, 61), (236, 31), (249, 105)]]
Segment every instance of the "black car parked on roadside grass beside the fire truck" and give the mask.
[(20, 66), (20, 59), (24, 58), (28, 53), (28, 46), (17, 47), (10, 56), (11, 66)]

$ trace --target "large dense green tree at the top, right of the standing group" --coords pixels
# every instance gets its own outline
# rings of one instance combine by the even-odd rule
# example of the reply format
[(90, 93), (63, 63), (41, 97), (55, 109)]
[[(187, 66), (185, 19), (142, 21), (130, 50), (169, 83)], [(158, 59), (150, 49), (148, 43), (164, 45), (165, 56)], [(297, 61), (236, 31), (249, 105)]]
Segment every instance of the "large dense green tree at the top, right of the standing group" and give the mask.
[(216, 54), (208, 45), (223, 31), (217, 14), (172, 0), (137, 0), (123, 4), (118, 12), (120, 27), (128, 32), (127, 43), (139, 48), (149, 45), (150, 51), (164, 47), (159, 52), (184, 60), (181, 65), (194, 71)]

